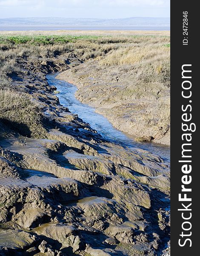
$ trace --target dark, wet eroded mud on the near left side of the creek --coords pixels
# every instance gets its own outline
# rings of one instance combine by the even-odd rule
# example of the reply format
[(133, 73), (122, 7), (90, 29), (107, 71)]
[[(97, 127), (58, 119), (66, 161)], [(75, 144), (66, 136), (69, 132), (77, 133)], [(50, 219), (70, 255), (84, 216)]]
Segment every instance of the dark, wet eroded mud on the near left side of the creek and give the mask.
[(23, 61), (13, 84), (43, 128), (1, 122), (0, 254), (161, 255), (169, 241), (169, 166), (109, 143), (60, 105), (47, 73), (75, 55)]

